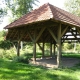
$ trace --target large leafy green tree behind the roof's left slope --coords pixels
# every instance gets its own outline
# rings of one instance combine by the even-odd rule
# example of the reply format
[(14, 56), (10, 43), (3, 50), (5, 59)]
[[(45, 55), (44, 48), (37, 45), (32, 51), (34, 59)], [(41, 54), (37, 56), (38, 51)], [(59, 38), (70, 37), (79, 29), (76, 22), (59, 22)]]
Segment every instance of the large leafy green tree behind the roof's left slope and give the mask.
[(15, 20), (30, 12), (38, 0), (5, 0), (5, 2), (7, 10), (12, 13), (12, 19)]

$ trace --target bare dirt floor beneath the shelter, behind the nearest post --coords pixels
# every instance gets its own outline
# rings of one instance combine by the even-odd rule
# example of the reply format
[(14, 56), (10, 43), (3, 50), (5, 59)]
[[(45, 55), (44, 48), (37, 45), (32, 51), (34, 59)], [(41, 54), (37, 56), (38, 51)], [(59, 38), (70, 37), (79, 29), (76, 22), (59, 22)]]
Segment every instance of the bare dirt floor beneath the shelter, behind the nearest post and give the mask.
[[(57, 68), (57, 59), (56, 58), (37, 58), (36, 62), (30, 61), (30, 63), (35, 65), (42, 65), (47, 68)], [(77, 58), (62, 58), (61, 63), (63, 67), (73, 67), (76, 64), (80, 63), (80, 59)]]

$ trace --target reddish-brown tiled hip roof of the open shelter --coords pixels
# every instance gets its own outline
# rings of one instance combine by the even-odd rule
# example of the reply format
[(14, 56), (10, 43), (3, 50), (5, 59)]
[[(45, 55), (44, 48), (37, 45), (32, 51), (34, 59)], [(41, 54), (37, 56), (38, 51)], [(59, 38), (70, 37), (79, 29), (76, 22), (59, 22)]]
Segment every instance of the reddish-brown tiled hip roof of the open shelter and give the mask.
[(80, 17), (47, 3), (7, 25), (5, 29), (49, 19), (80, 26)]

